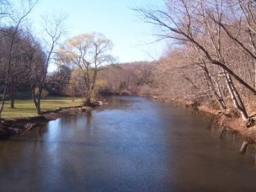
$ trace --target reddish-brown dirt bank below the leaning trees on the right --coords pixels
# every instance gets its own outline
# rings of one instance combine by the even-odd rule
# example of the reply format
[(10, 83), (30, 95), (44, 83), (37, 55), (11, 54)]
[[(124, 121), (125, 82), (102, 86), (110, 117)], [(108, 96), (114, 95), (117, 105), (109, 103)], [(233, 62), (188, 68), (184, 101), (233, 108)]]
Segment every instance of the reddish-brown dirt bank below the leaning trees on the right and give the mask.
[[(220, 136), (223, 136), (225, 132), (232, 132), (242, 138), (244, 143), (246, 143), (246, 147), (247, 145), (251, 145), (253, 148), (256, 147), (256, 125), (247, 128), (244, 121), (239, 117), (238, 113), (232, 112), (229, 116), (227, 116), (221, 113), (220, 110), (214, 109), (206, 104), (200, 104), (189, 100), (158, 99), (163, 102), (171, 102), (177, 106), (191, 108), (195, 113), (202, 113), (209, 117), (212, 122), (212, 126), (220, 129)], [(244, 149), (242, 146), (241, 152), (244, 152), (243, 150)]]

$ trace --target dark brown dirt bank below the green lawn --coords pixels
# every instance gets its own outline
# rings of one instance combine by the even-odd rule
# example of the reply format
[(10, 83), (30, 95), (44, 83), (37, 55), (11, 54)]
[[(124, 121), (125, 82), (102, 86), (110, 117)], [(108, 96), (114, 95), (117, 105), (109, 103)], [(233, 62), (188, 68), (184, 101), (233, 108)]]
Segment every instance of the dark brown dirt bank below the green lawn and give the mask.
[(63, 116), (85, 113), (92, 110), (92, 106), (77, 106), (71, 108), (60, 108), (54, 111), (47, 111), (40, 116), (27, 118), (13, 118), (1, 120), (0, 139), (7, 139), (19, 132), (28, 131), (36, 125), (45, 124), (51, 120), (56, 120)]

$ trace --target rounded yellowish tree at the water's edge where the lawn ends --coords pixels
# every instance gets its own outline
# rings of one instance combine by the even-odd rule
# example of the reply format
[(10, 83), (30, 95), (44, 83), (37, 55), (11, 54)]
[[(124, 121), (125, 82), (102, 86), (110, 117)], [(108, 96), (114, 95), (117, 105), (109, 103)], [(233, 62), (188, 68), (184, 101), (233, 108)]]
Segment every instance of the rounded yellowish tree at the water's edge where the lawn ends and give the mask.
[(105, 69), (100, 65), (113, 61), (111, 49), (110, 40), (100, 33), (92, 33), (68, 39), (59, 50), (60, 61), (74, 69), (72, 81), (83, 92), (84, 104), (92, 102), (97, 74)]

